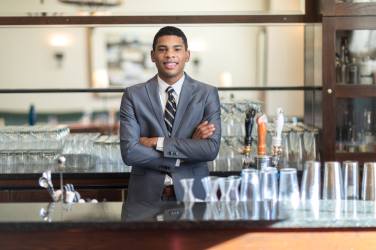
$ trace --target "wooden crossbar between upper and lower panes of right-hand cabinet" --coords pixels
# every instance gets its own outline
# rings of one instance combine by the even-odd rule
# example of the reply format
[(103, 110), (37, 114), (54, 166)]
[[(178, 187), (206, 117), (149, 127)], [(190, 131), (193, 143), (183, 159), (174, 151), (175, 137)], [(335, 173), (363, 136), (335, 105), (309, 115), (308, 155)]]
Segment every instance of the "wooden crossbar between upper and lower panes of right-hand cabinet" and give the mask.
[(336, 84), (336, 98), (376, 97), (376, 84)]

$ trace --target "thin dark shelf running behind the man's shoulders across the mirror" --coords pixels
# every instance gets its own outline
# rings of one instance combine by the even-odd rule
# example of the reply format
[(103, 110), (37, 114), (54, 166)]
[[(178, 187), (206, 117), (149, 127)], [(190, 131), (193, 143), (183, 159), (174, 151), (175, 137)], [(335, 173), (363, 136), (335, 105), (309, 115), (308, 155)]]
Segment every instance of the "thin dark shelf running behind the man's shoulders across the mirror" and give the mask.
[[(219, 91), (322, 90), (321, 86), (218, 87)], [(125, 88), (0, 88), (0, 93), (122, 93)]]

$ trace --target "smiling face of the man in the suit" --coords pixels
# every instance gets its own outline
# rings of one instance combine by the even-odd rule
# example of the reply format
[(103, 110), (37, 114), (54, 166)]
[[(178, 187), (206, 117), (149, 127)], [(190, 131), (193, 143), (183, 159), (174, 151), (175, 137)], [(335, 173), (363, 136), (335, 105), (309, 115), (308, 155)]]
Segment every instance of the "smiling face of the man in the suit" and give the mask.
[(159, 77), (173, 78), (182, 76), (189, 55), (189, 50), (185, 51), (181, 37), (164, 35), (158, 38), (155, 51), (151, 50), (151, 61), (155, 62)]

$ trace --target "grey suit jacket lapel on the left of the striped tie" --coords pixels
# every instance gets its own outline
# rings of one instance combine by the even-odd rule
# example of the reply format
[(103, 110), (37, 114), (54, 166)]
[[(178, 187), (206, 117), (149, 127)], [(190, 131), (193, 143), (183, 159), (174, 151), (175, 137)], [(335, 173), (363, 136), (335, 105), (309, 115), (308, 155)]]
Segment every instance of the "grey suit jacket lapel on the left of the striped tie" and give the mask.
[[(151, 106), (154, 110), (154, 113), (159, 122), (159, 125), (163, 130), (164, 136), (168, 137), (166, 124), (164, 123), (163, 110), (162, 110), (162, 107), (160, 106), (160, 99), (159, 99), (159, 92), (158, 92), (158, 80), (156, 78), (156, 75), (153, 78), (151, 78), (149, 81), (150, 82), (145, 85), (147, 95), (149, 96)], [(173, 122), (175, 123), (175, 121)]]

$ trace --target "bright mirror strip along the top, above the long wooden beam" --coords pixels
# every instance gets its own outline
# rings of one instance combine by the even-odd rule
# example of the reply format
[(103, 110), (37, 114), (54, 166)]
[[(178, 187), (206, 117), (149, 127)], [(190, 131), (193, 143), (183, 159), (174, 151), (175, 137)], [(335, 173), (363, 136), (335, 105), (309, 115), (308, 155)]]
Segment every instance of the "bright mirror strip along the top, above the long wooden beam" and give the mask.
[(21, 0), (1, 1), (0, 15), (304, 14), (304, 3), (301, 0), (177, 0), (174, 4), (167, 0), (159, 0), (158, 4), (153, 0)]

